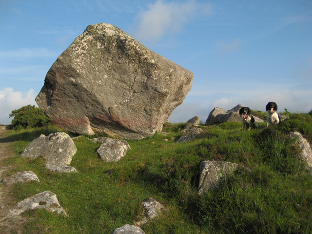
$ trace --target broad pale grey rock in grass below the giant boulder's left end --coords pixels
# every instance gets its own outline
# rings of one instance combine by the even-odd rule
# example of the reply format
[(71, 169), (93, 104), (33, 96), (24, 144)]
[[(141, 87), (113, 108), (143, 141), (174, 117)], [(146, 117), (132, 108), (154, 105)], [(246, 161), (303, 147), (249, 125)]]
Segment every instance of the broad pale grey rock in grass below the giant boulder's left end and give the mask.
[(47, 164), (68, 165), (77, 148), (74, 141), (66, 133), (52, 133), (47, 137), (39, 137), (30, 142), (22, 157), (37, 158), (42, 156)]

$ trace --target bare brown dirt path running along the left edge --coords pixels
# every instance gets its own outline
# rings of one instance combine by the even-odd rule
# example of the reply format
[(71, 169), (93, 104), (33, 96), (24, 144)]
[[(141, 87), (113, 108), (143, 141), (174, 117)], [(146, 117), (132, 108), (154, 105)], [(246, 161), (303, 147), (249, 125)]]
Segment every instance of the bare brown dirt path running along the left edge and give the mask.
[[(5, 176), (5, 171), (9, 170), (9, 166), (3, 165), (5, 158), (14, 156), (12, 154), (12, 142), (5, 136), (7, 131), (6, 125), (0, 125), (0, 179)], [(8, 206), (13, 199), (10, 197), (10, 188), (3, 186), (0, 183), (0, 234), (21, 234), (22, 224), (25, 222), (24, 218), (19, 217), (8, 217), (10, 207)]]

